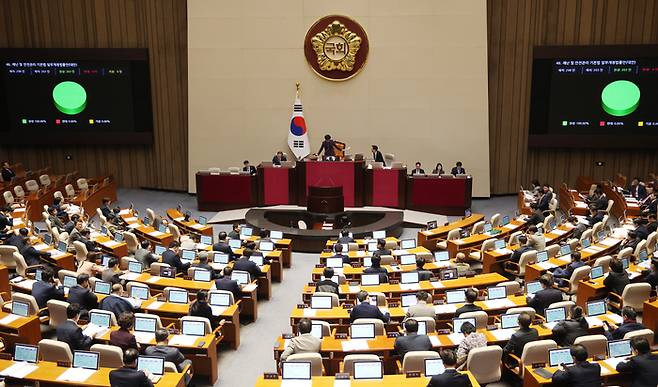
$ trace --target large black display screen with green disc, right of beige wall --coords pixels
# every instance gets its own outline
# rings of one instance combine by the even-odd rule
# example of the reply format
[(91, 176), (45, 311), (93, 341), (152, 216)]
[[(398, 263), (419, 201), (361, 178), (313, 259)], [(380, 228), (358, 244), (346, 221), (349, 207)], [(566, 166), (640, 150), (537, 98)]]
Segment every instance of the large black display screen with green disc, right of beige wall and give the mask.
[(656, 46), (535, 48), (529, 145), (655, 146), (657, 52)]

